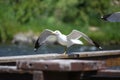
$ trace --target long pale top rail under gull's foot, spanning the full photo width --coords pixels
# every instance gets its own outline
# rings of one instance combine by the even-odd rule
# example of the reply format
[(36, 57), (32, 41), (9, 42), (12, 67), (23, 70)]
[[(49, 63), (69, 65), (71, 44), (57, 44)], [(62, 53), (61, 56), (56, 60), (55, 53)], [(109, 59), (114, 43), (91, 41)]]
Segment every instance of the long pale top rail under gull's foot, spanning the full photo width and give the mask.
[(85, 58), (90, 57), (104, 57), (104, 56), (117, 56), (120, 57), (120, 50), (110, 51), (92, 51), (92, 52), (76, 52), (72, 54), (35, 54), (35, 55), (22, 55), (22, 56), (9, 56), (0, 57), (0, 63), (16, 62), (18, 60), (39, 60), (39, 59), (58, 59), (58, 58)]

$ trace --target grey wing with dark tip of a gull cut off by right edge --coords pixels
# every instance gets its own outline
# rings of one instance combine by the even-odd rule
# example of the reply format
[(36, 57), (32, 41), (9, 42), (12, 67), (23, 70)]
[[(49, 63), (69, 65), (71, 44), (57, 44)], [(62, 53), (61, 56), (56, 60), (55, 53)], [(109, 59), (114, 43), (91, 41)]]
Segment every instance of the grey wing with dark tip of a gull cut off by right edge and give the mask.
[(120, 12), (114, 12), (101, 17), (101, 19), (109, 22), (120, 22)]

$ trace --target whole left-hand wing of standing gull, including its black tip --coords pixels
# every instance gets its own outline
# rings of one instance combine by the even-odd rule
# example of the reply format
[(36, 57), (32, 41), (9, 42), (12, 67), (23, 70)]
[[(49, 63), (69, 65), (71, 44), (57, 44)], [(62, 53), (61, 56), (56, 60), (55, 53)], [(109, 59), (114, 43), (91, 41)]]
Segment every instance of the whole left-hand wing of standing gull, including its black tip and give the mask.
[(40, 36), (38, 37), (37, 41), (35, 42), (34, 50), (36, 51), (42, 43), (45, 42), (45, 40), (48, 38), (48, 36), (52, 35), (53, 31), (49, 29), (45, 29)]

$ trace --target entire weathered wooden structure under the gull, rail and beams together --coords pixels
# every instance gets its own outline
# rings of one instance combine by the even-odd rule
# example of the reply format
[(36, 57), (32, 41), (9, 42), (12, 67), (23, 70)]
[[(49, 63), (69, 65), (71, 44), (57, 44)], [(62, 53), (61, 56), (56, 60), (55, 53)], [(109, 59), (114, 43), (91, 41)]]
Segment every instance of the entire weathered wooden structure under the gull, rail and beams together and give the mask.
[(120, 66), (120, 50), (0, 57), (0, 64), (0, 80), (120, 80), (119, 70), (105, 69)]

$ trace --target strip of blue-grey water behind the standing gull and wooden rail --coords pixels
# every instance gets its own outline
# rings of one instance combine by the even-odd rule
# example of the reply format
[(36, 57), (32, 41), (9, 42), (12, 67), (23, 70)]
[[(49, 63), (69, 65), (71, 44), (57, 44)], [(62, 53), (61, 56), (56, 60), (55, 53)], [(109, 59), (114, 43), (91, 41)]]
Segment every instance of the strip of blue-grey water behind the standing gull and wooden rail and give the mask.
[[(104, 46), (103, 50), (118, 50), (120, 45), (117, 46)], [(16, 55), (31, 55), (31, 54), (48, 54), (48, 53), (63, 53), (64, 47), (59, 45), (54, 46), (42, 46), (37, 52), (33, 51), (34, 46), (18, 46), (18, 45), (5, 45), (0, 44), (0, 57), (1, 56), (16, 56)], [(68, 49), (67, 53), (72, 52), (84, 52), (84, 51), (96, 51), (99, 50), (94, 46), (72, 46)]]

